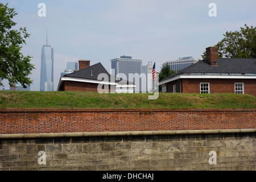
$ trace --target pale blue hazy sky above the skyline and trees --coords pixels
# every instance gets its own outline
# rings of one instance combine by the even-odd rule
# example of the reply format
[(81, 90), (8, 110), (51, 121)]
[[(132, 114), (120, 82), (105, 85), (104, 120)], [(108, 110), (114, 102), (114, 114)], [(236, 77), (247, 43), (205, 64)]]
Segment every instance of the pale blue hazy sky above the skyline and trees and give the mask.
[[(35, 65), (29, 76), (32, 91), (40, 88), (41, 49), (54, 48), (54, 89), (66, 63), (80, 59), (101, 63), (110, 73), (110, 60), (122, 55), (156, 63), (159, 72), (166, 61), (180, 56), (201, 59), (205, 48), (224, 38), (226, 31), (256, 26), (255, 0), (1, 0), (14, 8), (17, 30), (26, 27), (22, 53)], [(46, 16), (39, 16), (39, 3)], [(216, 16), (210, 3), (216, 4)], [(5, 88), (9, 87), (4, 81)], [(2, 90), (2, 86), (0, 89)]]

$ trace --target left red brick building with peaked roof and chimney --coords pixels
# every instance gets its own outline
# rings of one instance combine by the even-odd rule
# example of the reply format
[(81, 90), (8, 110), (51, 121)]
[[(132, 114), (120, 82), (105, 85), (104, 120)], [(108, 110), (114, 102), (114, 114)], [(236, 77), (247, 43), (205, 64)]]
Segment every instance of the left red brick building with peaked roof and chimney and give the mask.
[[(100, 76), (102, 73), (105, 77)], [(79, 70), (60, 77), (57, 91), (98, 92), (99, 84), (100, 89), (106, 89), (108, 93), (127, 93), (129, 88), (133, 90), (135, 86), (110, 75), (101, 63), (90, 65), (90, 60), (79, 60)]]

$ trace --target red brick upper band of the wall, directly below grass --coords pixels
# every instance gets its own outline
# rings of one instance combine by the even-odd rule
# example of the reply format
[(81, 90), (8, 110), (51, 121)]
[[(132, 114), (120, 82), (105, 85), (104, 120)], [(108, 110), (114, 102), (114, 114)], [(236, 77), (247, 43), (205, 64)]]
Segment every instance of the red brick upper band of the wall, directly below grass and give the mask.
[(255, 129), (255, 110), (1, 110), (0, 134)]

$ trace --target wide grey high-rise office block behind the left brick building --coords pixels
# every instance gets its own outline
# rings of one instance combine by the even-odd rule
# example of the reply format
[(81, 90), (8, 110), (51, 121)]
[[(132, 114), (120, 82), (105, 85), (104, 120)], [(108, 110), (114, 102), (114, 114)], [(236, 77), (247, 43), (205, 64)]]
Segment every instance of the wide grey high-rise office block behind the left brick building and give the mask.
[(129, 78), (130, 73), (133, 75), (133, 82), (136, 85), (134, 92), (141, 92), (142, 59), (132, 59), (131, 56), (121, 56), (120, 58), (115, 58), (110, 61), (110, 74), (117, 76), (119, 73), (123, 73), (126, 75), (127, 80), (131, 81), (131, 78)]

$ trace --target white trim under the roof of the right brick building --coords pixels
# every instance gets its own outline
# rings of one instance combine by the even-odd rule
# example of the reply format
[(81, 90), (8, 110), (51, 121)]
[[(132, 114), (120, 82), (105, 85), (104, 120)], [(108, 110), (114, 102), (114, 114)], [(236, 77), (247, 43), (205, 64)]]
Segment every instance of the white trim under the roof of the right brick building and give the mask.
[(166, 84), (180, 78), (220, 78), (220, 79), (256, 79), (256, 76), (248, 75), (177, 75), (175, 77), (168, 78), (167, 80), (160, 81), (159, 85)]

